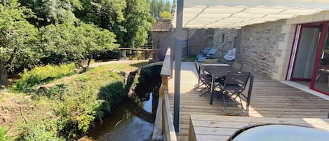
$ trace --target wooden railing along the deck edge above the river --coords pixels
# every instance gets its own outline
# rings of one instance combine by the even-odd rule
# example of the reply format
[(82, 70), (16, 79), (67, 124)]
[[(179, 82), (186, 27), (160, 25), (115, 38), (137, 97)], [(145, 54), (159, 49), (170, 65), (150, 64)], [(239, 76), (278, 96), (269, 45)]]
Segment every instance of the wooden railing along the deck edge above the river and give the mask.
[(154, 132), (152, 140), (176, 141), (175, 128), (173, 126), (173, 117), (170, 112), (168, 98), (168, 79), (171, 75), (170, 48), (166, 52), (161, 69), (161, 87), (159, 89), (159, 103), (156, 112), (156, 121), (154, 123)]

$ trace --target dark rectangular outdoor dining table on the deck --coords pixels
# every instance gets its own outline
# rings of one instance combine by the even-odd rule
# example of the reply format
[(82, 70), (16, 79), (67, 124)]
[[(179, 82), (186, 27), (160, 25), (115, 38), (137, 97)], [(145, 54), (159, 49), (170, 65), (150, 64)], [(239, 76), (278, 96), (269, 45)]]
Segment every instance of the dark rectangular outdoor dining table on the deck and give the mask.
[(211, 88), (210, 88), (210, 105), (213, 105), (213, 89), (215, 79), (227, 76), (229, 65), (227, 64), (201, 64), (201, 67), (211, 75)]

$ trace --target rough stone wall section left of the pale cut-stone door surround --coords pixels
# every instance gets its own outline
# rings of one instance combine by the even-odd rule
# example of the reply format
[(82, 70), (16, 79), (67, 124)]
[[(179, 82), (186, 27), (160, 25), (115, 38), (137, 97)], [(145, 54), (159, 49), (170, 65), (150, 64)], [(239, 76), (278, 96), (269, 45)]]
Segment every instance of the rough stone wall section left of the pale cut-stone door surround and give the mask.
[(281, 58), (282, 52), (278, 47), (285, 38), (281, 33), (283, 25), (286, 25), (286, 20), (242, 27), (242, 62), (265, 76), (272, 77), (277, 73), (276, 59)]

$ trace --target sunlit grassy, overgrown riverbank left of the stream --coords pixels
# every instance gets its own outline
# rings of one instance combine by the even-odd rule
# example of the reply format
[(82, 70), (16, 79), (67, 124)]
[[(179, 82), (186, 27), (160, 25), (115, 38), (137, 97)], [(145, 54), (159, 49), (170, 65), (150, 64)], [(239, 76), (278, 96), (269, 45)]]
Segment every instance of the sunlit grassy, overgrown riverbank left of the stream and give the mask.
[[(11, 126), (8, 135), (15, 136), (16, 140), (76, 140), (125, 97), (123, 76), (116, 72), (129, 72), (148, 63), (141, 61), (104, 65), (82, 74), (63, 78), (52, 76), (51, 81), (37, 81), (31, 86), (27, 85), (28, 93), (24, 87), (20, 92), (2, 90), (0, 113), (8, 111), (14, 118), (0, 126)], [(53, 67), (49, 68), (53, 70)], [(37, 74), (46, 72), (44, 69), (47, 68), (36, 71)], [(34, 76), (33, 70), (26, 73)], [(61, 83), (48, 85), (54, 81)], [(45, 84), (49, 87), (40, 87)], [(27, 123), (20, 115), (20, 107)]]

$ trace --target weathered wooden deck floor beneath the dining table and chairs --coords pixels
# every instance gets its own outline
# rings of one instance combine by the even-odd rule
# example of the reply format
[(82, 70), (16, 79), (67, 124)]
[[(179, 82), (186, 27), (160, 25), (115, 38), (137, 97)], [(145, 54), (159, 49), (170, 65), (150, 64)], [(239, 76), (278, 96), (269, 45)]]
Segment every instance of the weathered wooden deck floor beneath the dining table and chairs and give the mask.
[[(224, 110), (221, 100), (209, 105), (209, 94), (199, 97), (193, 90), (197, 83), (194, 62), (182, 62), (180, 82), (180, 135), (177, 140), (188, 140), (190, 114), (232, 115), (243, 113), (239, 107)], [(174, 76), (175, 77), (175, 76)], [(169, 79), (169, 99), (173, 112), (174, 77)], [(250, 117), (321, 118), (329, 112), (329, 101), (297, 88), (255, 74), (250, 102)]]

